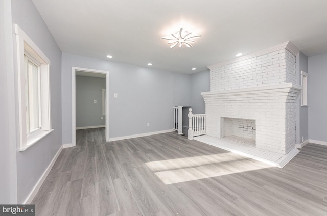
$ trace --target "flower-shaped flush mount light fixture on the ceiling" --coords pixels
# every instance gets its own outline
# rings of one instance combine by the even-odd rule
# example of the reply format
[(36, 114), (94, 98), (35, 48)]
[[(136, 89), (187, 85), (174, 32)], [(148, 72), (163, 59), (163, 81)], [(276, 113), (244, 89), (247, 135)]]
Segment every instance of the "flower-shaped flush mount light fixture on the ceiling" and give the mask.
[(168, 44), (171, 44), (170, 48), (174, 48), (179, 44), (179, 47), (183, 47), (185, 45), (186, 47), (192, 47), (191, 43), (195, 43), (194, 40), (190, 39), (195, 39), (199, 38), (202, 35), (195, 35), (191, 36), (192, 32), (188, 32), (183, 30), (183, 28), (180, 28), (178, 32), (175, 32), (171, 34), (173, 37), (163, 37), (162, 39), (169, 40)]

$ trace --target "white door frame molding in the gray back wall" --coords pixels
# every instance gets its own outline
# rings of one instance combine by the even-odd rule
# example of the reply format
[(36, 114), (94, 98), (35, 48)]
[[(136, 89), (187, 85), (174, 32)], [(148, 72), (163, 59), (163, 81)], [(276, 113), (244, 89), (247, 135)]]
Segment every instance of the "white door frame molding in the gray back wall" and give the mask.
[(76, 71), (106, 74), (106, 142), (109, 142), (109, 71), (72, 67), (72, 144), (76, 146)]

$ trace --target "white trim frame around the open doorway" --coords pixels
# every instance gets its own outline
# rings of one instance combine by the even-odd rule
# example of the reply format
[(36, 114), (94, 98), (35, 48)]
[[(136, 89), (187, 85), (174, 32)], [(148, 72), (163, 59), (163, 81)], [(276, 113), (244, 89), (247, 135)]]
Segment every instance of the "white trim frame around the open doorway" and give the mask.
[(76, 146), (76, 74), (81, 74), (90, 77), (103, 77), (106, 79), (105, 94), (105, 137), (106, 142), (109, 142), (109, 71), (94, 70), (87, 68), (72, 68), (72, 146)]

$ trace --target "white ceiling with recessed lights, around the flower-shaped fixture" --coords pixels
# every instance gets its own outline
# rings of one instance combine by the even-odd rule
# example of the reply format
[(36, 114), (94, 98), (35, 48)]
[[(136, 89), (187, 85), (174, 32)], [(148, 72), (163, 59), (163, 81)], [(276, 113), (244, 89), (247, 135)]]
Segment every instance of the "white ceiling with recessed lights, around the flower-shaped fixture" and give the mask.
[[(62, 52), (107, 61), (194, 73), (286, 41), (307, 56), (327, 53), (326, 0), (33, 2)], [(161, 38), (181, 27), (202, 37), (171, 49)]]

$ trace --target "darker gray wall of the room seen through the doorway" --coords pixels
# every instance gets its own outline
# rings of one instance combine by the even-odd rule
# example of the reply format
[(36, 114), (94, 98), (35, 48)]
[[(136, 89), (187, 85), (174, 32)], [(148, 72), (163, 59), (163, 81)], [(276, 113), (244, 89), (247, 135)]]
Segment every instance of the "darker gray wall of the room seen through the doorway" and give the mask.
[(105, 88), (105, 78), (76, 76), (76, 127), (105, 125), (101, 90)]

